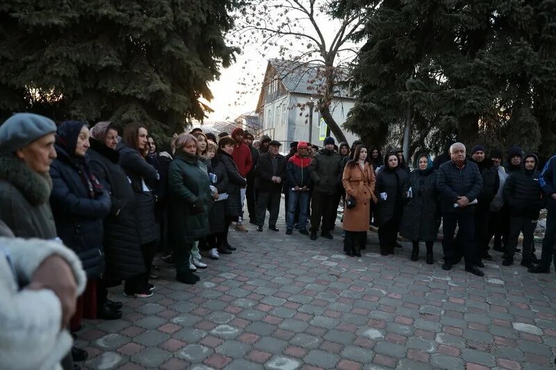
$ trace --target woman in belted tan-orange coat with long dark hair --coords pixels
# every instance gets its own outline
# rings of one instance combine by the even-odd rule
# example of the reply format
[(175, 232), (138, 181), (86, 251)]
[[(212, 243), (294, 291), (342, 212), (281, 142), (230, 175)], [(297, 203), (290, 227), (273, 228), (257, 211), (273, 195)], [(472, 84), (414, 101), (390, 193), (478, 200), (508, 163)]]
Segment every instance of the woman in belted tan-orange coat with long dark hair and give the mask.
[[(343, 214), (345, 239), (343, 250), (347, 255), (361, 257), (369, 230), (370, 202), (375, 199), (375, 171), (366, 162), (368, 148), (358, 145), (353, 159), (347, 162), (342, 183), (346, 201)], [(355, 205), (350, 203), (355, 201)]]

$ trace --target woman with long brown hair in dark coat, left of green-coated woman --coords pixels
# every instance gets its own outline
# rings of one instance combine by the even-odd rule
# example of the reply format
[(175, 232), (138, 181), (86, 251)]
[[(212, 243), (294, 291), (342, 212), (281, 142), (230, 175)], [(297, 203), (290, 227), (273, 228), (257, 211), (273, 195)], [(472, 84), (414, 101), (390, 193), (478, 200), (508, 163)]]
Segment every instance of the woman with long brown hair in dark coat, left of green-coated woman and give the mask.
[(154, 285), (149, 283), (152, 261), (158, 249), (160, 228), (154, 215), (156, 181), (159, 176), (156, 169), (147, 163), (143, 153), (148, 151), (147, 128), (138, 122), (127, 124), (122, 135), (122, 142), (118, 144), (120, 166), (126, 171), (135, 193), (133, 212), (136, 215), (139, 242), (145, 273), (126, 279), (124, 295), (136, 298), (152, 296)]

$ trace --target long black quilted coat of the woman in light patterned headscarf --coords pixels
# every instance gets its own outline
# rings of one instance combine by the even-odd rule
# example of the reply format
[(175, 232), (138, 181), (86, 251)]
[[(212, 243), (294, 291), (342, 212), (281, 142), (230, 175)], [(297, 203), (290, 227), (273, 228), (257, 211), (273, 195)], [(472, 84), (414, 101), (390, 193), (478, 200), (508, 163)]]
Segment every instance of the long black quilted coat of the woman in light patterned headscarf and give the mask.
[(91, 170), (110, 189), (112, 209), (104, 219), (106, 278), (123, 280), (145, 271), (135, 208), (135, 193), (120, 165), (120, 153), (95, 139), (90, 140)]

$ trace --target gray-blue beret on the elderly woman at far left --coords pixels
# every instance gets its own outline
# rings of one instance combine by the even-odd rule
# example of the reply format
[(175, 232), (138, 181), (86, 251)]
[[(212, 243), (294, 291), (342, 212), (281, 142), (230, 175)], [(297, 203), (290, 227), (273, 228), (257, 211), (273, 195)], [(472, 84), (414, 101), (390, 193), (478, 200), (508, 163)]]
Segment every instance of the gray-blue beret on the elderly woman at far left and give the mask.
[(56, 133), (56, 124), (33, 113), (16, 113), (0, 126), (0, 151), (11, 153), (38, 138)]

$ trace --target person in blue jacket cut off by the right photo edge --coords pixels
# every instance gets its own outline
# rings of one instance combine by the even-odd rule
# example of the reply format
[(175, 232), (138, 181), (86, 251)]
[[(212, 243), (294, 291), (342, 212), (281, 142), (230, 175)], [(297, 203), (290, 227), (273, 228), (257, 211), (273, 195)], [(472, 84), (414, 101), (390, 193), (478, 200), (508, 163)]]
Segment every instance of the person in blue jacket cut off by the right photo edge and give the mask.
[(539, 178), (541, 188), (546, 195), (546, 230), (543, 239), (541, 263), (528, 270), (532, 273), (550, 272), (551, 260), (556, 268), (555, 236), (556, 236), (556, 155), (546, 162)]

